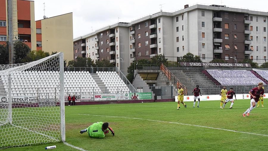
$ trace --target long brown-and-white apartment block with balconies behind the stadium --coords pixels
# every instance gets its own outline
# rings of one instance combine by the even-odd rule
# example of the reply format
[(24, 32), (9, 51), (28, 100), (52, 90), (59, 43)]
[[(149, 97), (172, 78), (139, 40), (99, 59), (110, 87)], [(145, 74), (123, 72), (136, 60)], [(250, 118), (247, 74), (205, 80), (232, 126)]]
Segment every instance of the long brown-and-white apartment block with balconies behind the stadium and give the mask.
[(173, 13), (158, 12), (107, 26), (74, 42), (95, 36), (99, 54), (95, 60), (110, 60), (120, 69), (122, 61), (124, 73), (133, 61), (159, 54), (171, 61), (193, 53), (203, 62), (222, 58), (231, 63), (249, 58), (262, 64), (267, 57), (267, 16), (267, 12), (222, 5), (185, 5)]

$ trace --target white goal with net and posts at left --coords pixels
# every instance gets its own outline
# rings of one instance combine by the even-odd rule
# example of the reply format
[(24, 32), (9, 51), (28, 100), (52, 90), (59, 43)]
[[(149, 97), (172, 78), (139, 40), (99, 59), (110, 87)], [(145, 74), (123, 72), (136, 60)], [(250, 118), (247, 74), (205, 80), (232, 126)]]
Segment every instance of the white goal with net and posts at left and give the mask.
[(0, 149), (65, 141), (63, 53), (0, 65)]

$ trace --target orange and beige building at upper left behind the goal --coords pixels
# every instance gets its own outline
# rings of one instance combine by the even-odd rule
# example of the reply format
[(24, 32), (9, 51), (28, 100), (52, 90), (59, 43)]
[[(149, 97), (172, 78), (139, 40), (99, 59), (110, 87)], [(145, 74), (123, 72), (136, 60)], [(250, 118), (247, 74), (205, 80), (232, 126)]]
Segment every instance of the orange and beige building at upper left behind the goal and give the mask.
[[(63, 52), (64, 59), (73, 59), (72, 13), (35, 21), (34, 1), (13, 0), (13, 40), (22, 41), (32, 50)], [(0, 1), (0, 44), (6, 44), (7, 0)]]

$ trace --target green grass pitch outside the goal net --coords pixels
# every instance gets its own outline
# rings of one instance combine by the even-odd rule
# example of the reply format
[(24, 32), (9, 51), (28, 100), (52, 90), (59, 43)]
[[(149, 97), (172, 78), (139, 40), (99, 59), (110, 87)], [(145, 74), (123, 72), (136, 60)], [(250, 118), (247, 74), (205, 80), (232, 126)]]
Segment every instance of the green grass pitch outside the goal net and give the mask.
[[(187, 108), (180, 110), (177, 102), (66, 106), (66, 142), (87, 151), (267, 150), (268, 99), (249, 117), (242, 116), (249, 99), (235, 101), (233, 109), (230, 102), (225, 109), (219, 101), (201, 101), (200, 108), (197, 102), (195, 108), (193, 101), (185, 103)], [(97, 139), (79, 133), (97, 121), (109, 122), (115, 136), (109, 132)], [(62, 142), (4, 150), (37, 151), (52, 145), (55, 151), (76, 150)]]

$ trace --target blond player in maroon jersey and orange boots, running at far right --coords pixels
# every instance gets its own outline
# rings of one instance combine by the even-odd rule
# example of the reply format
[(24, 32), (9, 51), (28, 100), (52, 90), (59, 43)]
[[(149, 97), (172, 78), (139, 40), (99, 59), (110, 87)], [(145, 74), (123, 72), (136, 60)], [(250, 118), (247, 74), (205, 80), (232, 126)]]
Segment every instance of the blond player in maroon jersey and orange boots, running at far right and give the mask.
[(258, 103), (260, 96), (263, 96), (264, 90), (262, 87), (263, 83), (259, 82), (258, 87), (254, 87), (250, 90), (250, 92), (248, 92), (250, 94), (250, 107), (243, 113), (244, 117), (246, 117), (246, 114), (249, 116), (250, 111), (253, 110)]

